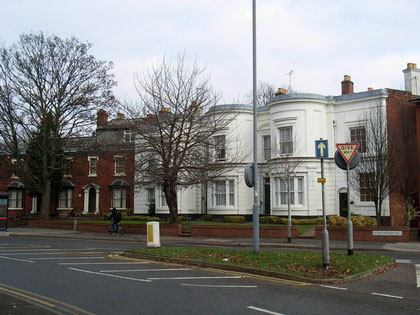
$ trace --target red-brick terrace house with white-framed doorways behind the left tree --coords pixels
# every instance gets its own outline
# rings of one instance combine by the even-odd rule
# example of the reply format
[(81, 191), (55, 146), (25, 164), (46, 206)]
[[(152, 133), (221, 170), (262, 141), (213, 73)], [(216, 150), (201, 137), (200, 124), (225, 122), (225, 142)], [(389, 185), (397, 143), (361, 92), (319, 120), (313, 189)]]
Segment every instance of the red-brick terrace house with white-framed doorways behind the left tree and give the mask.
[[(65, 152), (68, 163), (61, 189), (51, 196), (52, 213), (103, 214), (112, 207), (133, 211), (134, 134), (122, 114), (108, 121), (100, 109), (94, 134), (72, 141)], [(39, 196), (5, 167), (0, 168), (0, 191), (9, 192), (10, 218), (39, 212)]]

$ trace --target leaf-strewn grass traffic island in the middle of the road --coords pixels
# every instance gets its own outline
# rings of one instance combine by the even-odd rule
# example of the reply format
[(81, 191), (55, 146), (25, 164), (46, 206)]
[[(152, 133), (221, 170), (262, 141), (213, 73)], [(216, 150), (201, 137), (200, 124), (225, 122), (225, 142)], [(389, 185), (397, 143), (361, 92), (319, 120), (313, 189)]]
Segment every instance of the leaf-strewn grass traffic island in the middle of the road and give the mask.
[(313, 279), (343, 279), (374, 270), (392, 262), (392, 258), (374, 254), (330, 253), (330, 267), (322, 268), (321, 253), (259, 251), (219, 248), (159, 247), (128, 250), (132, 254), (178, 258), (194, 261), (250, 267)]

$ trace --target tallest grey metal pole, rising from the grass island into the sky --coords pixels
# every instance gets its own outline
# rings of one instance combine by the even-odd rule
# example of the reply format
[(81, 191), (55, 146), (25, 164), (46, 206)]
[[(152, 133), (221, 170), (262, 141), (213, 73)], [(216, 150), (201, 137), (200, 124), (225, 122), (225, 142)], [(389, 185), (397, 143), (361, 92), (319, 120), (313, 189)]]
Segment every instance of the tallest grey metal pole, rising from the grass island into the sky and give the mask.
[(260, 221), (258, 209), (258, 160), (257, 160), (257, 31), (256, 31), (256, 0), (252, 0), (252, 102), (253, 102), (253, 129), (254, 129), (254, 205), (252, 207), (253, 249), (260, 249)]

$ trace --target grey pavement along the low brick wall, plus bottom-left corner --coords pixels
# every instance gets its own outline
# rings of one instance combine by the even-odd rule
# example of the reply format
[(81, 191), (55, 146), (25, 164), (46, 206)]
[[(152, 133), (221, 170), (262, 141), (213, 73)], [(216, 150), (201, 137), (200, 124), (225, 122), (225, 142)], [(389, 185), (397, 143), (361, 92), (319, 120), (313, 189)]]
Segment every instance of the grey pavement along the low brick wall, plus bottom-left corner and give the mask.
[[(32, 227), (9, 228), (0, 231), (0, 237), (48, 237), (86, 240), (112, 240), (121, 242), (136, 242), (146, 244), (146, 235), (125, 234), (107, 235), (105, 233), (92, 233), (62, 229), (42, 229)], [(162, 246), (184, 245), (184, 246), (224, 246), (253, 248), (252, 238), (207, 238), (207, 237), (170, 237), (161, 236)], [(346, 241), (330, 241), (330, 250), (347, 251)], [(259, 240), (261, 249), (283, 248), (283, 249), (308, 249), (321, 250), (322, 243), (313, 237), (293, 239), (291, 243), (287, 239), (263, 238)], [(354, 242), (354, 251), (375, 251), (375, 252), (410, 252), (420, 253), (420, 242)], [(14, 296), (0, 293), (1, 314), (52, 314), (50, 311), (28, 303)]]

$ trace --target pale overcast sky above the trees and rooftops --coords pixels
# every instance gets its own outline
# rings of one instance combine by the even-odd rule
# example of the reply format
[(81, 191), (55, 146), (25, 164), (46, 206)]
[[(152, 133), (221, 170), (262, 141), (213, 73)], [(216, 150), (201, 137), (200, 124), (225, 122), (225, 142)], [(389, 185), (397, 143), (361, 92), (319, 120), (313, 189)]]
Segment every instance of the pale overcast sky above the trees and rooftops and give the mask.
[[(93, 44), (112, 61), (115, 94), (136, 100), (133, 74), (185, 52), (206, 67), (221, 103), (252, 89), (251, 0), (0, 0), (0, 41), (43, 31)], [(257, 0), (257, 77), (275, 87), (337, 95), (345, 74), (355, 92), (403, 89), (408, 62), (420, 68), (419, 0)]]

